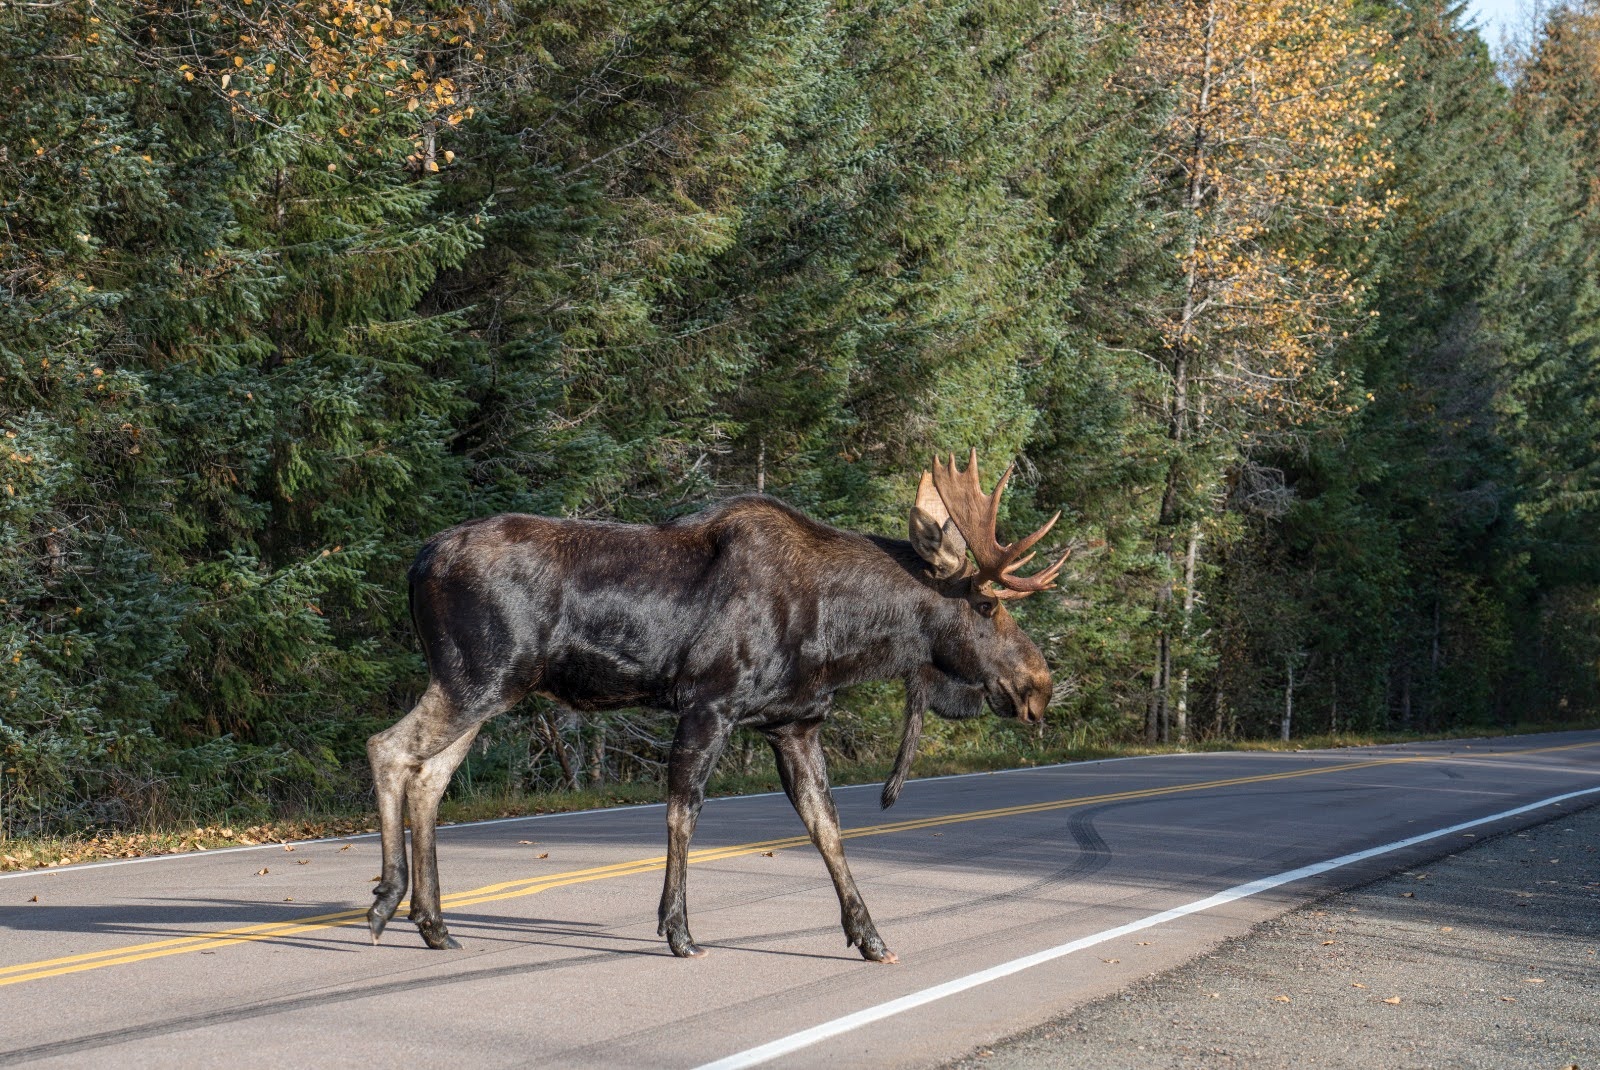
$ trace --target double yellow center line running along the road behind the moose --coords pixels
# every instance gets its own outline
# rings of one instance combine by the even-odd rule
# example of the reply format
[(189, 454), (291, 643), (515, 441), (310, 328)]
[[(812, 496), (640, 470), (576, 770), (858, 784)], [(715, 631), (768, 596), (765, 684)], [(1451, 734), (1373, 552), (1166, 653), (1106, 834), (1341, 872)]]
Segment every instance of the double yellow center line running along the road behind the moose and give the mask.
[[(1600, 742), (1566, 744), (1560, 747), (1539, 747), (1530, 750), (1501, 750), (1472, 757), (1480, 757), (1480, 758), (1522, 757), (1522, 755), (1550, 753), (1558, 750), (1578, 750), (1582, 747), (1595, 747), (1595, 745), (1600, 745)], [(880, 825), (862, 825), (859, 828), (843, 830), (842, 836), (845, 840), (856, 840), (861, 836), (883, 836), (894, 832), (915, 832), (917, 828), (936, 828), (939, 825), (957, 825), (970, 820), (994, 820), (997, 817), (1042, 814), (1054, 809), (1070, 809), (1075, 806), (1094, 806), (1099, 803), (1120, 803), (1128, 800), (1158, 798), (1162, 795), (1179, 795), (1186, 792), (1210, 792), (1214, 789), (1240, 787), (1245, 784), (1293, 781), (1298, 777), (1323, 776), (1328, 773), (1352, 773), (1355, 769), (1373, 769), (1378, 766), (1390, 766), (1390, 765), (1403, 765), (1416, 761), (1440, 761), (1450, 757), (1456, 755), (1408, 755), (1402, 758), (1374, 758), (1368, 761), (1350, 761), (1333, 766), (1294, 769), (1290, 773), (1266, 773), (1261, 776), (1227, 777), (1222, 781), (1202, 781), (1197, 784), (1174, 784), (1170, 787), (1136, 789), (1130, 792), (1107, 792), (1104, 795), (1083, 795), (1075, 798), (1051, 800), (1046, 803), (1024, 803), (1019, 806), (976, 809), (965, 814), (946, 814), (942, 817), (915, 817), (910, 820), (891, 820)], [(690, 864), (717, 862), (722, 859), (736, 859), (749, 854), (765, 854), (768, 851), (782, 851), (786, 848), (806, 846), (810, 843), (811, 843), (810, 836), (781, 836), (778, 840), (741, 843), (728, 848), (706, 848), (701, 851), (690, 851), (688, 860)], [(587, 881), (611, 880), (614, 876), (635, 876), (638, 873), (650, 873), (666, 868), (666, 864), (667, 864), (666, 857), (651, 857), (651, 859), (638, 859), (634, 862), (616, 862), (613, 865), (597, 865), (587, 870), (552, 873), (547, 876), (526, 876), (514, 881), (502, 881), (499, 884), (485, 884), (483, 888), (474, 888), (472, 891), (453, 892), (450, 896), (445, 896), (443, 907), (446, 910), (454, 910), (459, 907), (470, 907), (474, 904), (494, 902), (499, 899), (536, 896), (538, 892), (549, 891), (550, 888), (566, 888), (568, 884), (584, 884)], [(139, 963), (150, 958), (165, 958), (168, 955), (213, 952), (219, 947), (227, 947), (230, 944), (248, 944), (253, 940), (277, 940), (298, 936), (301, 932), (312, 932), (315, 929), (330, 929), (344, 924), (358, 924), (363, 923), (365, 920), (366, 920), (365, 910), (360, 908), (339, 910), (334, 913), (318, 913), (304, 918), (294, 918), (291, 921), (251, 924), (237, 929), (221, 929), (216, 932), (179, 936), (166, 940), (155, 940), (150, 944), (114, 947), (104, 952), (83, 952), (82, 955), (64, 955), (61, 958), (46, 958), (37, 963), (18, 963), (16, 966), (0, 966), (0, 987), (21, 984), (24, 980), (42, 980), (45, 977), (77, 974), (88, 969), (102, 969), (106, 966)]]

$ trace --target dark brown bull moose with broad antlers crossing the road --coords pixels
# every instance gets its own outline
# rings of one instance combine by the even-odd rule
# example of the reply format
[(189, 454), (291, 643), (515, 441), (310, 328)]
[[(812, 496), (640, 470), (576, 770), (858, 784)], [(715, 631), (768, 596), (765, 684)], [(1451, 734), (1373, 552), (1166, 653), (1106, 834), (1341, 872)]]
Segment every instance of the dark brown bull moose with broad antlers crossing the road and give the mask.
[[(440, 913), (438, 801), (485, 720), (538, 693), (576, 710), (653, 707), (677, 715), (667, 761), (667, 865), (659, 929), (680, 958), (690, 936), (685, 868), (706, 781), (736, 726), (773, 749), (784, 792), (838, 892), (848, 945), (894, 963), (845, 864), (821, 726), (834, 694), (906, 681), (906, 726), (882, 803), (910, 769), (925, 710), (970, 718), (984, 702), (1038, 723), (1050, 669), (1005, 603), (1053, 585), (1066, 555), (1018, 576), (1061, 517), (1010, 545), (1000, 494), (982, 491), (978, 451), (922, 473), (909, 541), (818, 523), (766, 496), (741, 496), (662, 525), (502, 513), (434, 536), (410, 571), (411, 619), (430, 680), (368, 741), (382, 827), (373, 942), (406, 891), (432, 948), (454, 948)], [(971, 555), (971, 560), (968, 560)]]

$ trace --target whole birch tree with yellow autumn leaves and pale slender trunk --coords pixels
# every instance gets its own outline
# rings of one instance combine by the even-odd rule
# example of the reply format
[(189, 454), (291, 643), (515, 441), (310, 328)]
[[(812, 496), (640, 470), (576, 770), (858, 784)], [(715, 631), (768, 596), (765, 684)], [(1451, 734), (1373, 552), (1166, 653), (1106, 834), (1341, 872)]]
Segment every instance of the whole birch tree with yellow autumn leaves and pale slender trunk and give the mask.
[[(1166, 473), (1155, 550), (1157, 649), (1146, 736), (1187, 734), (1195, 576), (1224, 473), (1312, 413), (1352, 408), (1322, 357), (1357, 318), (1341, 250), (1371, 230), (1387, 160), (1378, 96), (1397, 77), (1349, 0), (1141, 3), (1139, 74), (1170, 93), (1152, 190), (1170, 206), (1158, 310)], [(1178, 675), (1174, 677), (1174, 665)]]

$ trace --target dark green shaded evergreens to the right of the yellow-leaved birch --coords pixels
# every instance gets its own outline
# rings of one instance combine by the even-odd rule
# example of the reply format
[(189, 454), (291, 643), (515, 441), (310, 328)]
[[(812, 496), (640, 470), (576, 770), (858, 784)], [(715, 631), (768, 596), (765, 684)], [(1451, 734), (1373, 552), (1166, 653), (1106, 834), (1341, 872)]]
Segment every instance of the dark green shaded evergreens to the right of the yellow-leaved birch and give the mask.
[(1533, 94), (1514, 99), (1458, 11), (1389, 18), (1398, 205), (1376, 242), (1374, 325), (1342, 355), (1370, 401), (1274, 459), (1293, 505), (1230, 561), (1219, 699), (1245, 731), (1278, 720), (1290, 659), (1296, 702), (1338, 728), (1594, 702), (1600, 662), (1565, 643), (1594, 630), (1600, 579), (1597, 277), (1578, 211), (1597, 158)]

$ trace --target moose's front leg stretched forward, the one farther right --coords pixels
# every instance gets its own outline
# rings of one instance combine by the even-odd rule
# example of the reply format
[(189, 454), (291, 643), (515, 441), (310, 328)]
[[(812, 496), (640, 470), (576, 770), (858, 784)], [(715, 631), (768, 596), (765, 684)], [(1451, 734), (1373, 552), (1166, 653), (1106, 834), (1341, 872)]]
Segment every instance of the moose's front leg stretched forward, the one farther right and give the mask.
[(827, 875), (834, 878), (845, 923), (845, 945), (861, 948), (861, 956), (874, 963), (898, 963), (899, 956), (883, 944), (877, 926), (872, 924), (867, 904), (856, 891), (856, 880), (850, 875), (850, 864), (845, 862), (845, 844), (838, 836), (838, 811), (834, 809), (834, 795), (827, 787), (821, 728), (822, 721), (797, 721), (766, 733), (778, 758), (778, 776), (782, 777), (789, 801), (811, 833), (811, 843), (822, 854)]

